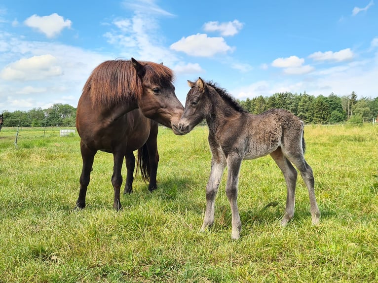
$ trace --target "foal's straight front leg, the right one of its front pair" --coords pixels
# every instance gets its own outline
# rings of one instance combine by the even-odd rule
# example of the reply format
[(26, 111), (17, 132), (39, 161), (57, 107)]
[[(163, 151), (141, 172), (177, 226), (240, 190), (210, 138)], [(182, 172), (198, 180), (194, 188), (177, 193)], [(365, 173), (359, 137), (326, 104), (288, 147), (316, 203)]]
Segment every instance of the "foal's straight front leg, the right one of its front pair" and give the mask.
[(242, 158), (237, 154), (230, 154), (227, 157), (227, 184), (226, 195), (231, 207), (232, 214), (232, 239), (239, 239), (241, 232), (241, 221), (239, 216), (239, 209), (237, 207), (237, 186), (239, 181), (239, 171)]

